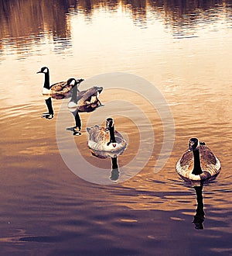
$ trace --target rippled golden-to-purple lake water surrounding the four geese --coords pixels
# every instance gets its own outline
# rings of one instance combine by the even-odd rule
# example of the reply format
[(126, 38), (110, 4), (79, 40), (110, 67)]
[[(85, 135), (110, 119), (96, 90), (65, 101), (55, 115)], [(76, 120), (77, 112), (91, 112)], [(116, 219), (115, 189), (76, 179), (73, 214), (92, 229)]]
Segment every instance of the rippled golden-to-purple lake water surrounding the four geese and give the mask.
[[(231, 1), (0, 2), (1, 255), (232, 255), (231, 17)], [(104, 87), (82, 136), (67, 99), (41, 118), (43, 66)], [(117, 182), (85, 132), (109, 115), (129, 142)], [(189, 137), (222, 164), (198, 195), (203, 230), (175, 171)]]

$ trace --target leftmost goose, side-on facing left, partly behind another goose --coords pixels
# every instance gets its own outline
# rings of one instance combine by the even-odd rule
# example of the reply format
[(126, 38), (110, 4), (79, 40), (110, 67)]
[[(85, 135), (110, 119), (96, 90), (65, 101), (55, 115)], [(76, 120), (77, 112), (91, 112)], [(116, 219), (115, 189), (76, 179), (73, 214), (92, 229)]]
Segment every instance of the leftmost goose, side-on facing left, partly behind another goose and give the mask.
[(49, 68), (41, 67), (37, 74), (39, 73), (44, 74), (43, 95), (54, 95), (53, 98), (55, 99), (63, 99), (75, 85), (79, 85), (80, 82), (84, 81), (82, 78), (78, 80), (75, 78), (69, 78), (67, 81), (60, 81), (56, 84), (50, 85)]

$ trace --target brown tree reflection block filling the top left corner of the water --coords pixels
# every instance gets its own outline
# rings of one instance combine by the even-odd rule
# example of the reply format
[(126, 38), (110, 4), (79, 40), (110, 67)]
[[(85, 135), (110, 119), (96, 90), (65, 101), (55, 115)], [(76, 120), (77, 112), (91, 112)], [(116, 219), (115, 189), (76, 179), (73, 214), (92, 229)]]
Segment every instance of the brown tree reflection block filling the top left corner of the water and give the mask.
[(15, 44), (19, 53), (31, 44), (62, 39), (70, 44), (70, 24), (67, 13), (75, 1), (1, 1), (0, 49)]

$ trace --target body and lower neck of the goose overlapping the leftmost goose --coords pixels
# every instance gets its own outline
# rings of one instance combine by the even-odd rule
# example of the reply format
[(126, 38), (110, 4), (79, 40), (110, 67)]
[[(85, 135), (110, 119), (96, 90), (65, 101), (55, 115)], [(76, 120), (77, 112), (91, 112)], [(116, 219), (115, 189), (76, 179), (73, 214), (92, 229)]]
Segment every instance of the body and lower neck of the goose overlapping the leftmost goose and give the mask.
[(73, 87), (72, 98), (68, 103), (69, 109), (79, 109), (80, 112), (91, 112), (98, 106), (102, 106), (98, 99), (102, 92), (102, 87), (91, 87), (85, 91), (79, 91), (77, 86)]

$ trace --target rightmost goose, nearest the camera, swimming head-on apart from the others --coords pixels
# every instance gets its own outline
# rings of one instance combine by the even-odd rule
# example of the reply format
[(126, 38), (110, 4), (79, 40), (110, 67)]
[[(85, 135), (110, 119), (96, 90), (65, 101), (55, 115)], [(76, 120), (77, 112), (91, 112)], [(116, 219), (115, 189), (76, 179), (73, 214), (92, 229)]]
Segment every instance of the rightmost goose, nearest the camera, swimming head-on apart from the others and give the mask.
[(191, 138), (189, 149), (176, 163), (176, 172), (186, 181), (209, 180), (219, 174), (220, 161), (204, 142)]

